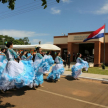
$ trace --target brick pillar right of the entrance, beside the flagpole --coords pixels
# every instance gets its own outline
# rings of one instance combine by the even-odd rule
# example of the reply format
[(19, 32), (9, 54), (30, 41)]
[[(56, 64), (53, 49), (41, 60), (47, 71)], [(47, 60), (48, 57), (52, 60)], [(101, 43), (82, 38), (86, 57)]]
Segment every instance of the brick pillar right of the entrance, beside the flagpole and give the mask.
[(101, 59), (101, 42), (94, 44), (94, 66), (100, 66)]

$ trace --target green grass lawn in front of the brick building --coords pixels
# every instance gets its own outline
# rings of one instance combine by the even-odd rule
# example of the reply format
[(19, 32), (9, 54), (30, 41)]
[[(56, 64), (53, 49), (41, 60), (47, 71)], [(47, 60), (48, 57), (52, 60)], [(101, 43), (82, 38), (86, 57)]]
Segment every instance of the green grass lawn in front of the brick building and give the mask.
[[(67, 70), (67, 71), (71, 71), (71, 70)], [(105, 67), (105, 70), (103, 70), (102, 67), (91, 67), (88, 69), (88, 72), (83, 71), (83, 73), (108, 75), (108, 67)]]

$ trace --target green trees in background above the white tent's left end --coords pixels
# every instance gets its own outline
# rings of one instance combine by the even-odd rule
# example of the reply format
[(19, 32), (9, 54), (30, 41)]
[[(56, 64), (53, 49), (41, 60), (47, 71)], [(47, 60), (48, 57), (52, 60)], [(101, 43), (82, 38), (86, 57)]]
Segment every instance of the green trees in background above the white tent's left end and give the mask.
[(20, 38), (20, 39), (14, 39), (13, 37), (10, 37), (10, 36), (3, 36), (3, 35), (0, 35), (0, 45), (3, 45), (3, 40), (2, 38), (5, 38), (4, 42), (8, 41), (8, 42), (13, 42), (14, 45), (30, 45), (29, 43), (29, 39), (28, 37), (24, 37), (23, 39)]

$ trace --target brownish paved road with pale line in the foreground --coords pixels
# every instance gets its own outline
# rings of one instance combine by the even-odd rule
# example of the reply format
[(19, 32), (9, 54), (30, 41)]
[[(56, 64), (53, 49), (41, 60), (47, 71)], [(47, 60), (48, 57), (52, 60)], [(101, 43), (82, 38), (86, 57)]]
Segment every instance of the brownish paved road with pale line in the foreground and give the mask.
[(43, 88), (24, 87), (0, 95), (0, 108), (108, 108), (108, 83), (72, 80), (47, 82)]

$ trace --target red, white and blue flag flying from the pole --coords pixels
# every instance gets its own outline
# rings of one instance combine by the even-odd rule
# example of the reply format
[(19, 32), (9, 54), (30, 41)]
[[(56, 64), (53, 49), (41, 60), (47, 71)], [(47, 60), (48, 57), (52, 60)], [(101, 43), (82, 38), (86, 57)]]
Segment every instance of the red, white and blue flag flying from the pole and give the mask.
[(90, 39), (98, 39), (104, 37), (105, 25), (103, 25), (98, 30), (92, 32), (83, 42), (86, 42)]

